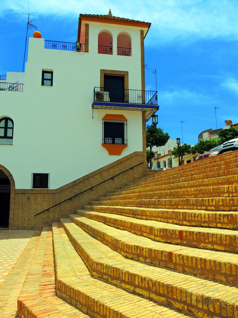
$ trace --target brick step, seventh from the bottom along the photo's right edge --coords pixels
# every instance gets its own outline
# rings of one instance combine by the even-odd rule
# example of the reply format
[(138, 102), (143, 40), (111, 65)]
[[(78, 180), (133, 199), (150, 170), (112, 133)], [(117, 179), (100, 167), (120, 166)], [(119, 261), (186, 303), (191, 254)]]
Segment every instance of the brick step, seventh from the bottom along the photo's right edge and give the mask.
[[(236, 169), (237, 171), (237, 169)], [(178, 190), (186, 188), (201, 188), (209, 186), (223, 186), (223, 185), (236, 185), (238, 184), (238, 175), (228, 175), (222, 177), (215, 177), (210, 179), (200, 179), (188, 181), (187, 178), (176, 179), (177, 183), (166, 183), (165, 181), (157, 180), (155, 183), (152, 183), (149, 180), (148, 183), (131, 185), (120, 190), (115, 190), (114, 192), (109, 191), (110, 195), (119, 195), (119, 194), (129, 194), (137, 192), (153, 192), (161, 190)], [(101, 196), (103, 197), (103, 195)]]

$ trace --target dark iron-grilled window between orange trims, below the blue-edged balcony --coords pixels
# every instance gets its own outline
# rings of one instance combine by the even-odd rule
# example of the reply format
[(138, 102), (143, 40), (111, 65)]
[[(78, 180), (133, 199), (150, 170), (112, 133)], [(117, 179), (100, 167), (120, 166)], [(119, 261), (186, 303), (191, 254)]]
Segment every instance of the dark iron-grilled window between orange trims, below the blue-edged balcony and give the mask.
[(127, 121), (102, 120), (102, 143), (127, 145)]

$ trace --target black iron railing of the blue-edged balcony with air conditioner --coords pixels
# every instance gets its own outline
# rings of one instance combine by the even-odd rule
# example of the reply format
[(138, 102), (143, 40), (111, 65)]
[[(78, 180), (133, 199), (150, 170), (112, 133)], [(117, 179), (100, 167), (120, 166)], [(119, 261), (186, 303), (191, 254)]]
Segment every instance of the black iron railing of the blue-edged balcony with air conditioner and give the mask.
[(157, 91), (94, 87), (94, 102), (158, 105)]

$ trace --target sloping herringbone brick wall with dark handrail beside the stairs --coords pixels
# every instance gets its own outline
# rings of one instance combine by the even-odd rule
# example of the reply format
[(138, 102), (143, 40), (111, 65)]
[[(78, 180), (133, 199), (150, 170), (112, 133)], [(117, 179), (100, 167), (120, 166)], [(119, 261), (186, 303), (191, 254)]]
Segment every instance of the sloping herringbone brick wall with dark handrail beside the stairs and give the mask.
[(61, 202), (79, 192), (89, 189), (102, 181), (115, 176), (116, 174), (129, 169), (143, 161), (142, 152), (134, 152), (116, 162), (98, 169), (86, 176), (83, 176), (71, 183), (56, 190), (49, 189), (16, 189), (13, 226), (14, 230), (41, 230), (43, 226), (49, 226), (52, 222), (59, 221), (59, 218), (67, 217), (76, 208), (82, 208), (100, 195), (123, 187), (143, 176), (143, 164), (134, 169), (130, 169), (115, 178), (102, 183), (101, 185), (88, 190), (83, 194), (60, 204), (49, 211), (34, 217), (50, 206)]

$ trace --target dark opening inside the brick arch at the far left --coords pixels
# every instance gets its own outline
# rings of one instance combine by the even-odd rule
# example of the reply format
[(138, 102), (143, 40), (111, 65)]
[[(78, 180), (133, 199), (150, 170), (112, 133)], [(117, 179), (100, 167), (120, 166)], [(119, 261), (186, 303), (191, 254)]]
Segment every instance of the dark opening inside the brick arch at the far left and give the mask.
[(10, 195), (10, 180), (0, 169), (0, 227), (9, 227)]

